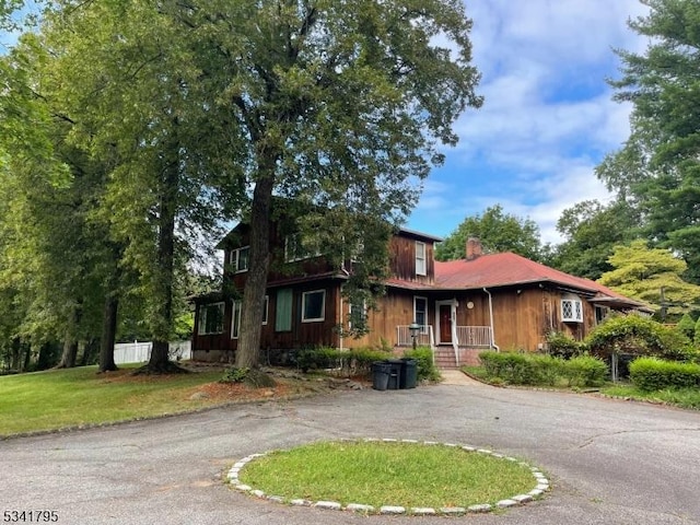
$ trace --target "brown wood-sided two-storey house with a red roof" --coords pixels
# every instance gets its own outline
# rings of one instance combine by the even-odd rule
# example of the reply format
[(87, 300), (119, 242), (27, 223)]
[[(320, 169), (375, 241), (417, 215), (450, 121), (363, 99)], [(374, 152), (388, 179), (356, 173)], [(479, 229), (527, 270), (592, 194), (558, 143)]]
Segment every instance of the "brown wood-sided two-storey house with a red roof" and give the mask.
[[(304, 253), (289, 222), (273, 223), (273, 264), (260, 326), (262, 354), (271, 361), (290, 350), (419, 346), (433, 349), (442, 368), (476, 364), (485, 349), (537, 351), (551, 331), (583, 339), (610, 311), (651, 312), (594, 281), (513, 253), (485, 254), (469, 238), (465, 257), (435, 261), (441, 238), (396, 230), (389, 241), (389, 277), (370, 331), (343, 337), (352, 305), (342, 295), (346, 267)], [(240, 223), (222, 240), (224, 290), (195, 298), (192, 359), (232, 361), (241, 327), (241, 294), (248, 270), (249, 228)], [(285, 269), (289, 265), (292, 270)], [(345, 266), (345, 265), (343, 265)], [(413, 329), (411, 330), (411, 325)], [(418, 329), (416, 326), (418, 325)]]

